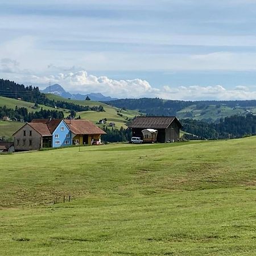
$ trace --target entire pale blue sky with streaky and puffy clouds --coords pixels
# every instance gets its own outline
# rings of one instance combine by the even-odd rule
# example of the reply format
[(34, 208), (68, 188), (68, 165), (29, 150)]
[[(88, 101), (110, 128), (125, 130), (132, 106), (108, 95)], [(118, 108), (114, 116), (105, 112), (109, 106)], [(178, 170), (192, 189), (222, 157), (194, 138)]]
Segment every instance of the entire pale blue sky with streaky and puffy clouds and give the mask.
[(256, 98), (256, 0), (0, 0), (0, 78), (117, 98)]

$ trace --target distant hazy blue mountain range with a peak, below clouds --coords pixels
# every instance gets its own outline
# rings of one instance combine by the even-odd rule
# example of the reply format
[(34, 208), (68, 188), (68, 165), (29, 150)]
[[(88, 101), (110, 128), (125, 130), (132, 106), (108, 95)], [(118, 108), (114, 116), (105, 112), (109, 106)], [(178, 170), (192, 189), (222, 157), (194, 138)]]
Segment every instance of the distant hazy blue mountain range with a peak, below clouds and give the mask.
[(41, 90), (42, 93), (52, 93), (57, 96), (61, 96), (63, 98), (70, 98), (72, 100), (85, 100), (85, 98), (88, 96), (90, 100), (92, 101), (113, 101), (117, 100), (117, 98), (112, 98), (108, 96), (104, 96), (101, 93), (90, 93), (90, 94), (71, 94), (69, 92), (66, 92), (63, 87), (59, 84), (53, 84), (51, 86), (48, 86), (46, 89)]

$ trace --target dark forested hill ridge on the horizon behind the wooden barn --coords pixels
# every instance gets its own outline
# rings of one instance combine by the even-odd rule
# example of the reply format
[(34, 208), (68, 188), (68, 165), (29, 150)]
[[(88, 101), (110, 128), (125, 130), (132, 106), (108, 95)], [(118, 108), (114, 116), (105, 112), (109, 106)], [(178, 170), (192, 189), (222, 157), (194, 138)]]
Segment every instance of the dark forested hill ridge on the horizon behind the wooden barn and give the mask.
[(106, 102), (117, 108), (139, 110), (148, 115), (176, 115), (208, 122), (231, 115), (256, 114), (256, 100), (250, 101), (177, 101), (160, 98), (122, 99)]

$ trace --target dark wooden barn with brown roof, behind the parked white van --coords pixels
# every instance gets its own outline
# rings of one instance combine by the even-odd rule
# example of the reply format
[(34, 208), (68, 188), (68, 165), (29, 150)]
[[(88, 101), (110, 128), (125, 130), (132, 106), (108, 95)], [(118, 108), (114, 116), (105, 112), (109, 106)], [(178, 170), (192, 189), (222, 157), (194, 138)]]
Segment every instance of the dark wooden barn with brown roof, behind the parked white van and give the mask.
[(129, 125), (133, 137), (143, 138), (144, 129), (157, 130), (156, 141), (160, 143), (177, 141), (180, 138), (181, 127), (176, 117), (137, 117)]

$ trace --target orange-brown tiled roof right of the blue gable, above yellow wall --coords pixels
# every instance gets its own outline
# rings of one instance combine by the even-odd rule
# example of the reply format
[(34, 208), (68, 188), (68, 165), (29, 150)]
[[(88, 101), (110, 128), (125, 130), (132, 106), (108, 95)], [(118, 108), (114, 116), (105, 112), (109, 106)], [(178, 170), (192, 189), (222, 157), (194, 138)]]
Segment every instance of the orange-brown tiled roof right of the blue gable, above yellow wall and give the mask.
[(98, 126), (88, 120), (68, 120), (64, 119), (69, 129), (74, 134), (106, 134), (105, 131), (101, 130)]

